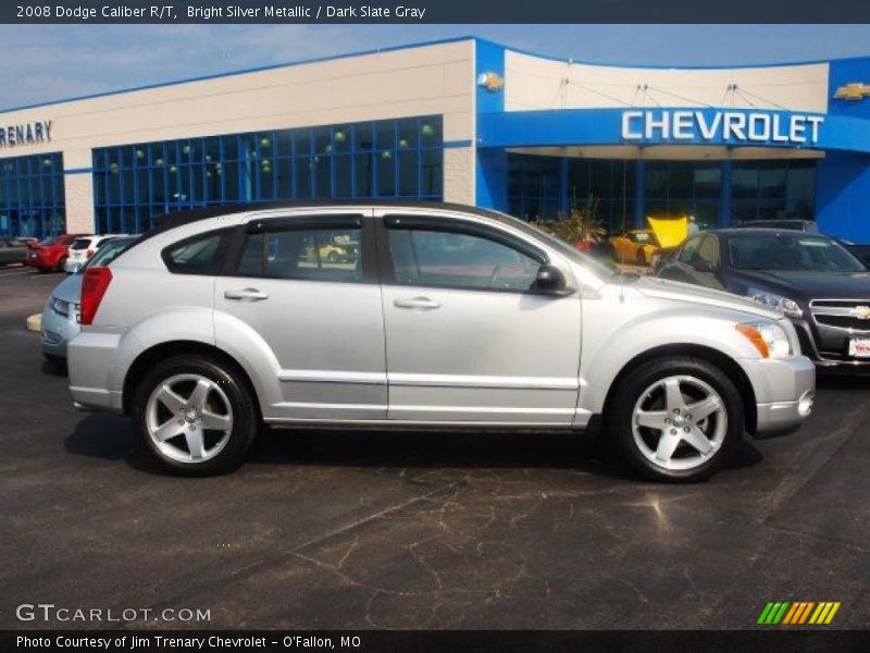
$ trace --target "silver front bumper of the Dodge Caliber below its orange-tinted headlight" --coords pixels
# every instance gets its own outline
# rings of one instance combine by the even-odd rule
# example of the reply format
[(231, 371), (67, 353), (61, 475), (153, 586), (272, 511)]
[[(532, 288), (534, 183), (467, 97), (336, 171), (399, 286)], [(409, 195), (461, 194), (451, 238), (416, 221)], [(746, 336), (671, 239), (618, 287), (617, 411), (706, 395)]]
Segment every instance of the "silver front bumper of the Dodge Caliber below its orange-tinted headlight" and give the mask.
[(816, 366), (806, 356), (741, 360), (756, 397), (756, 438), (796, 430), (809, 416)]

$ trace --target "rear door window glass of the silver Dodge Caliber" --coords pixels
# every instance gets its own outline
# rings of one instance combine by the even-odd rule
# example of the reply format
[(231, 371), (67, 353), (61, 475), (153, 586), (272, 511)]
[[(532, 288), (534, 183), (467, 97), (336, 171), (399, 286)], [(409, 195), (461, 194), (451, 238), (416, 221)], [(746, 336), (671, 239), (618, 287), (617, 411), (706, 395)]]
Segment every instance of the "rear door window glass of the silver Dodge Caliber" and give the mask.
[(357, 282), (361, 263), (359, 227), (288, 230), (249, 235), (237, 274)]

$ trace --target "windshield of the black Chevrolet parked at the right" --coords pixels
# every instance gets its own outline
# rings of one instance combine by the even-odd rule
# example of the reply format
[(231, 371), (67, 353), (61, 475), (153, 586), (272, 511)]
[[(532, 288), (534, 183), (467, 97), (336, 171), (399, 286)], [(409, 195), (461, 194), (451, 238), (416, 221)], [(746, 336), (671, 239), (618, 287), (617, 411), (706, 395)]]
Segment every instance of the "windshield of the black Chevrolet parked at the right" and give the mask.
[(865, 264), (836, 241), (806, 234), (730, 236), (731, 266), (736, 270), (865, 272)]

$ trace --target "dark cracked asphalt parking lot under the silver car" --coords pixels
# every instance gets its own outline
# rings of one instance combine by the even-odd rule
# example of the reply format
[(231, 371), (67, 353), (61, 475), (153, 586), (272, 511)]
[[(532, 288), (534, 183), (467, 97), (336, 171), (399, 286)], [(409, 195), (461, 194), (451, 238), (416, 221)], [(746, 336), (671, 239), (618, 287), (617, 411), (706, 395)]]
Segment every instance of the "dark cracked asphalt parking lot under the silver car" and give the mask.
[[(870, 381), (821, 380), (794, 435), (700, 485), (567, 435), (266, 433), (221, 478), (164, 475), (78, 414), (27, 316), (59, 274), (0, 270), (0, 627), (22, 603), (191, 608), (185, 628), (751, 628), (768, 601), (870, 625)], [(770, 627), (768, 627), (770, 628)]]

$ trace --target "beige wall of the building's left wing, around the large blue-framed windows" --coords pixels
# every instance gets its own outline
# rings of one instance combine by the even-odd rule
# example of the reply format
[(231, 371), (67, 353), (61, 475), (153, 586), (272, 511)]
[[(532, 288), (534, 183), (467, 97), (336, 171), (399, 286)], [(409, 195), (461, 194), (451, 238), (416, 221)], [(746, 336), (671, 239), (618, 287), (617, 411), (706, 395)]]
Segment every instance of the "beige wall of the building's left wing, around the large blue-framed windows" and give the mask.
[[(50, 104), (0, 113), (0, 125), (52, 121), (50, 143), (0, 159), (62, 151), (64, 168), (90, 168), (90, 150), (109, 145), (424, 114), (444, 115), (445, 140), (473, 141), (473, 79), (465, 40)], [(474, 204), (473, 158), (445, 150), (446, 199)], [(91, 175), (67, 174), (65, 189), (67, 229), (92, 229)]]

